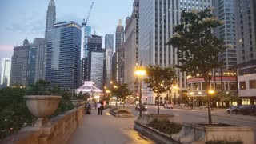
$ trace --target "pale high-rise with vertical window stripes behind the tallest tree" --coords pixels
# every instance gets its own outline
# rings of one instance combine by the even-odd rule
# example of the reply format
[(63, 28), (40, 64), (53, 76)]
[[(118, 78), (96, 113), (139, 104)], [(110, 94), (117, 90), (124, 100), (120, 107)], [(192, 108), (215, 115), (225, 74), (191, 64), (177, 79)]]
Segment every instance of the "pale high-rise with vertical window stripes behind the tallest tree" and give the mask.
[[(179, 24), (182, 10), (204, 10), (212, 6), (212, 0), (140, 0), (139, 1), (139, 51), (138, 59), (142, 65), (178, 65), (176, 49), (166, 46), (173, 36), (173, 27)], [(177, 69), (178, 90), (186, 90), (186, 74)], [(174, 94), (171, 94), (174, 95)]]

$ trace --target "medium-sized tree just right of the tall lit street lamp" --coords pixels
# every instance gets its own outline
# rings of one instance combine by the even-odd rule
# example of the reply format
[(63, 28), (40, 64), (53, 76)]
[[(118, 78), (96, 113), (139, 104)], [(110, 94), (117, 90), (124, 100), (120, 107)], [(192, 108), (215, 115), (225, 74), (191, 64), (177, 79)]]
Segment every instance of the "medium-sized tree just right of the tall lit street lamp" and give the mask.
[(146, 66), (147, 78), (144, 82), (150, 90), (153, 90), (157, 94), (158, 100), (158, 114), (159, 114), (159, 98), (162, 93), (166, 93), (170, 90), (170, 86), (176, 81), (176, 73), (174, 66), (162, 67), (162, 66)]

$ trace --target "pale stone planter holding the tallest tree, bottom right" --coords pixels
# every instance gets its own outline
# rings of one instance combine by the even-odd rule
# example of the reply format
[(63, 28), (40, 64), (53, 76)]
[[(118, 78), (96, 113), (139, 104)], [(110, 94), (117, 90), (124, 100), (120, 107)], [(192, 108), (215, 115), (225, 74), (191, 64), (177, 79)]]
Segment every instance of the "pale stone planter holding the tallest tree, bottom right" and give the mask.
[(227, 141), (243, 143), (254, 142), (254, 129), (246, 126), (204, 126), (194, 123), (183, 123), (178, 134), (172, 134), (175, 141), (181, 143), (203, 144), (208, 141)]

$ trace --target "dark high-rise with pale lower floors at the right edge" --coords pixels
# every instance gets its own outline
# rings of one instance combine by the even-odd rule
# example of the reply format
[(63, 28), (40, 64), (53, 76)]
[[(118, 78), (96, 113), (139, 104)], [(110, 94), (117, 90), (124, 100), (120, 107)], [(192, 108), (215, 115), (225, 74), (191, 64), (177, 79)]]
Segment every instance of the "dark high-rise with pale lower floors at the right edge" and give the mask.
[(238, 95), (242, 104), (256, 103), (256, 1), (235, 0), (238, 50)]

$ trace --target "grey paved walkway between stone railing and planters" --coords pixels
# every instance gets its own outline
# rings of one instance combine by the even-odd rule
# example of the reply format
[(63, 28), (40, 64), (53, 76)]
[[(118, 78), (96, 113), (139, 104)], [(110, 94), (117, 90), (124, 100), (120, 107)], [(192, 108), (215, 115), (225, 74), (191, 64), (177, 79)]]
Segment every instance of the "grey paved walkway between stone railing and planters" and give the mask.
[(134, 130), (136, 118), (115, 118), (104, 110), (98, 115), (91, 110), (83, 118), (82, 126), (74, 131), (69, 144), (147, 144), (154, 143)]

